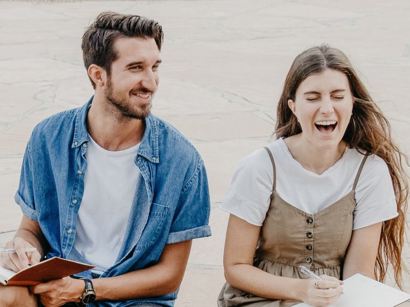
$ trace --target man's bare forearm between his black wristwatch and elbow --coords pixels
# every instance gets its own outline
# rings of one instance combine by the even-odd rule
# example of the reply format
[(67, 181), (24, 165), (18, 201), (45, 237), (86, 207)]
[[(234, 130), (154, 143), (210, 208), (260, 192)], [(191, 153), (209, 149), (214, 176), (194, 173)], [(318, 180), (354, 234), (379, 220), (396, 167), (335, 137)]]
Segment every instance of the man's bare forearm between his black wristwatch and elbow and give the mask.
[(124, 300), (155, 297), (174, 292), (182, 280), (166, 265), (157, 264), (124, 275), (93, 279), (98, 300)]

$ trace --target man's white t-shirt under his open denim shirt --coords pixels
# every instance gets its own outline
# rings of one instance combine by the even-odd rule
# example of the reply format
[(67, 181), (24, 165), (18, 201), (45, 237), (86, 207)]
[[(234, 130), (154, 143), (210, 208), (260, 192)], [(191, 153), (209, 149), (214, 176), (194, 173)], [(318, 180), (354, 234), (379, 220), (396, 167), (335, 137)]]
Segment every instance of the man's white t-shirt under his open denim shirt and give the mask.
[(109, 151), (90, 137), (74, 248), (96, 266), (92, 271), (98, 274), (115, 264), (124, 240), (140, 178), (134, 162), (138, 147)]

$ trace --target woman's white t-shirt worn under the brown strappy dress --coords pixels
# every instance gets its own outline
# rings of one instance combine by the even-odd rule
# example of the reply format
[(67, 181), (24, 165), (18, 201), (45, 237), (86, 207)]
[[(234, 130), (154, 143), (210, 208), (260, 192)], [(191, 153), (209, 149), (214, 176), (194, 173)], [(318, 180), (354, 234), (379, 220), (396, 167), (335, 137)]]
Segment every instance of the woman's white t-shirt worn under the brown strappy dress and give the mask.
[[(363, 159), (356, 149), (343, 153), (322, 174), (309, 171), (296, 161), (283, 139), (268, 145), (276, 166), (276, 192), (285, 202), (317, 213), (352, 191)], [(270, 206), (273, 168), (268, 152), (260, 148), (240, 163), (231, 187), (219, 206), (250, 224), (262, 226)], [(367, 158), (355, 190), (353, 229), (370, 226), (398, 215), (393, 184), (386, 163), (378, 156)]]

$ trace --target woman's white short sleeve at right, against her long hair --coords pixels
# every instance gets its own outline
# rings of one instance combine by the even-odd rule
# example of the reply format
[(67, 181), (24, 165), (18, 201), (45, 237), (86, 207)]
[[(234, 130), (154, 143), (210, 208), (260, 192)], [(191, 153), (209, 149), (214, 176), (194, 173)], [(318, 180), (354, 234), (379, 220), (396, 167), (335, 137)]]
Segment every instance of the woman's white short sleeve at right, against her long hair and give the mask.
[(390, 220), (398, 215), (388, 167), (378, 156), (370, 156), (364, 164), (355, 198), (354, 230)]

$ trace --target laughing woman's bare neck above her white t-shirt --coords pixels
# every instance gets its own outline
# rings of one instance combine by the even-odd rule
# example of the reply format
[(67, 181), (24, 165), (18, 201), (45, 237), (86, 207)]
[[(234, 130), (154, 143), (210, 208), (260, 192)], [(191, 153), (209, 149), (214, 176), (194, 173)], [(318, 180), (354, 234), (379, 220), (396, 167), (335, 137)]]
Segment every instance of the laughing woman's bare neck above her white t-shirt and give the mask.
[(343, 141), (333, 148), (317, 148), (309, 140), (304, 139), (302, 134), (286, 138), (284, 141), (293, 158), (303, 168), (319, 175), (334, 165), (346, 149), (346, 143)]

